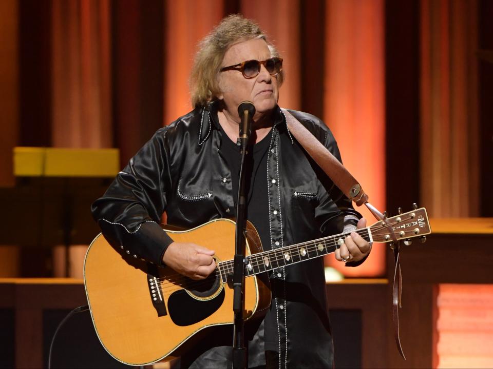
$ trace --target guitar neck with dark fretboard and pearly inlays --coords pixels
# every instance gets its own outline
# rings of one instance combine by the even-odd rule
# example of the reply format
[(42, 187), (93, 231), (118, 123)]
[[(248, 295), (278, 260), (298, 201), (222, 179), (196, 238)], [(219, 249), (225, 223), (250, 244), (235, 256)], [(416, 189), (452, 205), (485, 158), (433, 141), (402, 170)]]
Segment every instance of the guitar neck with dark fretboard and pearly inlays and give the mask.
[[(370, 227), (361, 228), (355, 232), (368, 242), (373, 241)], [(286, 265), (331, 254), (340, 247), (340, 244), (344, 243), (344, 239), (350, 234), (351, 232), (339, 233), (313, 241), (296, 243), (278, 249), (252, 254), (245, 259), (244, 275), (249, 277), (285, 267)], [(233, 273), (233, 260), (222, 261), (218, 264), (218, 267), (221, 277), (225, 281), (226, 276)]]

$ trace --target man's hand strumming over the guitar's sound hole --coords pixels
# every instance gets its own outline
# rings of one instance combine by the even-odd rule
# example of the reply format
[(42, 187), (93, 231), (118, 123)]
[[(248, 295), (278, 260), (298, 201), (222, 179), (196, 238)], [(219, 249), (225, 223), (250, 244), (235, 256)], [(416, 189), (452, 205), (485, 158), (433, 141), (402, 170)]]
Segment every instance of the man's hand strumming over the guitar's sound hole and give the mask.
[(214, 250), (195, 243), (173, 242), (163, 255), (163, 263), (192, 279), (205, 279), (216, 269)]

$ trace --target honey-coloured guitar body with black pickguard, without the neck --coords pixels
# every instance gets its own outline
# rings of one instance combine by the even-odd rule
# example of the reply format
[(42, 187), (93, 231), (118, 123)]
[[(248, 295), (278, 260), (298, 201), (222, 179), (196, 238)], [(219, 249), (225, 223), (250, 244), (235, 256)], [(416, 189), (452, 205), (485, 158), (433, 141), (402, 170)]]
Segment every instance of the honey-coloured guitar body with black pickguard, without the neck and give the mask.
[[(218, 262), (234, 258), (232, 220), (166, 232), (177, 242), (215, 250)], [(250, 223), (246, 234), (247, 255), (261, 252)], [(260, 317), (269, 308), (267, 283), (264, 275), (245, 278), (245, 320)], [(87, 251), (84, 284), (101, 343), (112, 357), (129, 365), (171, 360), (202, 338), (208, 327), (233, 324), (233, 289), (220, 275), (193, 281), (133, 255), (122, 257), (101, 234)]]

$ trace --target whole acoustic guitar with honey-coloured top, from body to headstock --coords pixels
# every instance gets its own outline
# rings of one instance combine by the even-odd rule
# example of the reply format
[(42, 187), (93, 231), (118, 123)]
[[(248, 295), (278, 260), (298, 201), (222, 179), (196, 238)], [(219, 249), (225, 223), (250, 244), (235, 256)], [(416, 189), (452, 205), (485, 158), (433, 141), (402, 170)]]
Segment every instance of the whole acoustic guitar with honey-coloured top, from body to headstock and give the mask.
[[(216, 270), (192, 280), (168, 267), (134, 255), (123, 256), (99, 234), (84, 261), (84, 283), (96, 333), (106, 351), (129, 365), (168, 361), (203, 338), (208, 327), (233, 324), (231, 276), (235, 222), (217, 219), (188, 231), (165, 231), (177, 242), (193, 242), (216, 251)], [(358, 229), (369, 242), (391, 242), (430, 233), (425, 208)], [(262, 316), (271, 292), (266, 272), (333, 253), (348, 234), (263, 251), (259, 236), (247, 225), (245, 320)]]

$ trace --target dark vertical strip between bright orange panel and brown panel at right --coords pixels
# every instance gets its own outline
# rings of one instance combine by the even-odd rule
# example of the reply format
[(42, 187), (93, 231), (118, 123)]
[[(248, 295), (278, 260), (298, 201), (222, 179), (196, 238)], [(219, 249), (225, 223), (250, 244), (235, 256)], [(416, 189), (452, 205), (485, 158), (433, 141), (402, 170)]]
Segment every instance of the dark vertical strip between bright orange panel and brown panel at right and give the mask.
[(387, 210), (420, 201), (418, 1), (385, 2)]

